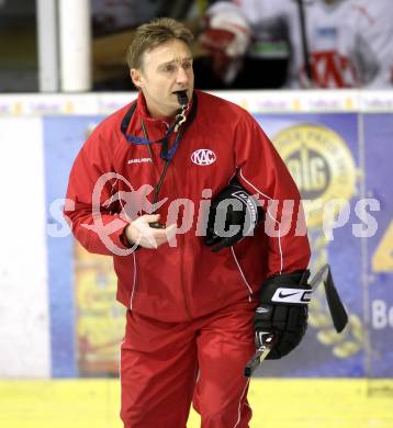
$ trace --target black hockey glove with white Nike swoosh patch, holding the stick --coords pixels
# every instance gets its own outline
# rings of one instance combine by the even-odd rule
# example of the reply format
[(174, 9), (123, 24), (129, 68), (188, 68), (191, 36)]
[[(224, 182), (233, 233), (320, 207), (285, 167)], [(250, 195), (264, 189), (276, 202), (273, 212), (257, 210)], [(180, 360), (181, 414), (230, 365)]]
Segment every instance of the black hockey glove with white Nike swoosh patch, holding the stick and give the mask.
[(287, 356), (302, 340), (307, 328), (307, 305), (312, 293), (308, 277), (310, 271), (305, 270), (277, 275), (263, 282), (254, 326), (257, 348), (268, 334), (277, 338), (267, 359)]

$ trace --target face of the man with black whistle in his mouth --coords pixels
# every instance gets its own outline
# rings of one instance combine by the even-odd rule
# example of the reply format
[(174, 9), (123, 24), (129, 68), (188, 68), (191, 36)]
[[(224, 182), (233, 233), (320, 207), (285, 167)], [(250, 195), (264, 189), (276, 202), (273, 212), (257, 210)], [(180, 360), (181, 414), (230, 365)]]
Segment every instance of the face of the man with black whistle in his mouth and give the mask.
[(153, 117), (172, 116), (179, 109), (176, 92), (187, 91), (192, 95), (194, 75), (192, 56), (184, 42), (171, 40), (145, 52), (141, 69), (132, 69), (135, 86), (145, 95)]

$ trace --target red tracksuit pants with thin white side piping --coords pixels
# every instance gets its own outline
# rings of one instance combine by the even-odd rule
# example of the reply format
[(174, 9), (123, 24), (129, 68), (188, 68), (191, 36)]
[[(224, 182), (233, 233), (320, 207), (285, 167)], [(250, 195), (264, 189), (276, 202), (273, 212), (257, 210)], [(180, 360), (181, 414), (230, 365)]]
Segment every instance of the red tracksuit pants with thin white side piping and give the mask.
[(186, 428), (191, 402), (202, 428), (247, 428), (244, 367), (255, 352), (256, 306), (239, 303), (187, 323), (128, 311), (121, 349), (124, 428)]

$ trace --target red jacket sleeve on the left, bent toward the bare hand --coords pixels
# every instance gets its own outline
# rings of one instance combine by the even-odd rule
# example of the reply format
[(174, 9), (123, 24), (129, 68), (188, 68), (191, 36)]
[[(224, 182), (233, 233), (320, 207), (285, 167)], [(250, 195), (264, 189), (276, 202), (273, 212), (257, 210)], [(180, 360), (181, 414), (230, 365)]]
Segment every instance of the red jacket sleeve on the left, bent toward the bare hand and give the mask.
[(102, 125), (91, 134), (79, 151), (68, 181), (65, 217), (72, 234), (90, 252), (121, 255), (130, 223), (115, 200), (117, 176), (112, 167), (115, 151), (113, 135)]

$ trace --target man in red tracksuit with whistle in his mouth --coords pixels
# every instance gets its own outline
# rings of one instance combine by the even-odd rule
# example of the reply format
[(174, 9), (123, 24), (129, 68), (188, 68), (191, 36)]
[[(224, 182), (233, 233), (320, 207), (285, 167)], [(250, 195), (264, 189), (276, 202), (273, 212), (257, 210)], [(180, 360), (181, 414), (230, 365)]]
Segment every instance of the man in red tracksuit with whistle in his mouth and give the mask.
[[(191, 40), (171, 19), (137, 29), (127, 60), (138, 98), (94, 129), (69, 178), (72, 232), (89, 251), (113, 256), (117, 300), (128, 308), (120, 370), (126, 428), (184, 428), (192, 401), (205, 428), (248, 427), (254, 324), (274, 330), (277, 358), (306, 326), (305, 305), (278, 308), (260, 293), (281, 279), (295, 293), (307, 288), (296, 187), (250, 114), (194, 90)], [(259, 203), (248, 210), (254, 223), (221, 236), (211, 222), (217, 201), (245, 193)], [(229, 221), (245, 222), (235, 205)], [(267, 311), (256, 314), (260, 303)]]

